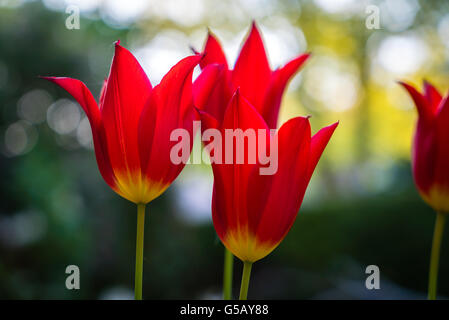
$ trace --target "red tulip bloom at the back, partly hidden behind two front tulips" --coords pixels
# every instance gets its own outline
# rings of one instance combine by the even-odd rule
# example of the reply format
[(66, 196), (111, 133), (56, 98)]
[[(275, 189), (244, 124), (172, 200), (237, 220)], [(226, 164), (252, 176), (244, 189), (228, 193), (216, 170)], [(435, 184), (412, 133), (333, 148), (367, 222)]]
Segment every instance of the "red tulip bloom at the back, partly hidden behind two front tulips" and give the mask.
[[(220, 43), (210, 32), (204, 54), (205, 57), (200, 62), (202, 69), (218, 64), (222, 70), (215, 89), (207, 98), (196, 100), (197, 106), (221, 121), (233, 93), (240, 88), (241, 94), (256, 108), (268, 127), (273, 129), (277, 125), (282, 94), (291, 77), (309, 57), (309, 54), (300, 55), (284, 67), (272, 71), (255, 23), (252, 25), (233, 70), (229, 69)], [(203, 73), (198, 77), (194, 89), (196, 85), (201, 86), (204, 82), (202, 77), (206, 76), (207, 73)], [(197, 99), (196, 96), (195, 99)]]

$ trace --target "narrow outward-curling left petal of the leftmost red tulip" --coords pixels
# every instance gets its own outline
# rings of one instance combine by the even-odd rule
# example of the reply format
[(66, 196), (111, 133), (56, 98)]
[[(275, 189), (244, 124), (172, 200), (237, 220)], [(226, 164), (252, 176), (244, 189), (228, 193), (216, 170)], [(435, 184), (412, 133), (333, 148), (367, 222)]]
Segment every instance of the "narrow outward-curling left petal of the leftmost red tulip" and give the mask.
[(100, 110), (95, 102), (92, 93), (87, 89), (86, 85), (80, 80), (63, 78), (63, 77), (42, 77), (56, 83), (61, 88), (70, 93), (73, 98), (80, 104), (81, 108), (89, 119), (92, 129), (92, 137), (94, 141), (95, 156), (98, 168), (103, 179), (112, 188), (115, 189), (115, 178), (109, 161), (106, 137), (103, 124), (101, 121)]

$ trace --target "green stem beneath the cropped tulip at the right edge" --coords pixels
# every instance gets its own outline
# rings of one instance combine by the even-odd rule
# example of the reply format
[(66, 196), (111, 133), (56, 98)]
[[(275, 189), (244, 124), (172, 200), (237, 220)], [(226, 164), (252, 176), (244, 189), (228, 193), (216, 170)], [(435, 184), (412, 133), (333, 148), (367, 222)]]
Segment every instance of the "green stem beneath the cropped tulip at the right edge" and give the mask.
[(437, 298), (437, 282), (438, 282), (438, 263), (440, 260), (441, 239), (443, 238), (445, 215), (437, 212), (435, 221), (435, 230), (433, 232), (432, 253), (430, 255), (430, 271), (429, 271), (429, 300)]

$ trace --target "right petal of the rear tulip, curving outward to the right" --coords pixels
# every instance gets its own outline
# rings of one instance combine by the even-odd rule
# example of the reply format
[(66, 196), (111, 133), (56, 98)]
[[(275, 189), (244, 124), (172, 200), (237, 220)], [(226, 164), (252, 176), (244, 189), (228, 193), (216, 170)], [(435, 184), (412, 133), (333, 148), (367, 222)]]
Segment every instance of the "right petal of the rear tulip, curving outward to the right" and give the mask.
[(281, 69), (273, 72), (271, 87), (267, 92), (263, 109), (261, 110), (262, 117), (271, 129), (277, 127), (282, 95), (288, 82), (299, 71), (309, 57), (310, 54), (303, 54), (287, 63)]

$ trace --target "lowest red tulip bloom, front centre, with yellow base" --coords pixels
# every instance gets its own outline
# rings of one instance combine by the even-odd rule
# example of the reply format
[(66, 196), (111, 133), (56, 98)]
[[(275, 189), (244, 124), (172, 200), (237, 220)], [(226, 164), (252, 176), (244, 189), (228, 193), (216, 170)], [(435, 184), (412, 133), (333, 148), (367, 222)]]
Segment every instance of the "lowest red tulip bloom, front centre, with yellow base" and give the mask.
[[(308, 118), (297, 117), (287, 121), (275, 136), (270, 137), (265, 120), (238, 90), (222, 122), (204, 111), (200, 114), (203, 128), (221, 132), (223, 146), (227, 143), (226, 129), (265, 132), (265, 144), (247, 143), (244, 163), (236, 164), (235, 143), (232, 164), (212, 163), (212, 217), (217, 234), (227, 249), (242, 261), (257, 261), (276, 248), (291, 228), (315, 166), (338, 123), (311, 137)], [(276, 141), (277, 171), (273, 175), (261, 175), (260, 169), (264, 165), (260, 162), (251, 164), (249, 154), (264, 153)], [(221, 154), (225, 151), (230, 150), (218, 150)], [(216, 152), (214, 149), (211, 157)]]

